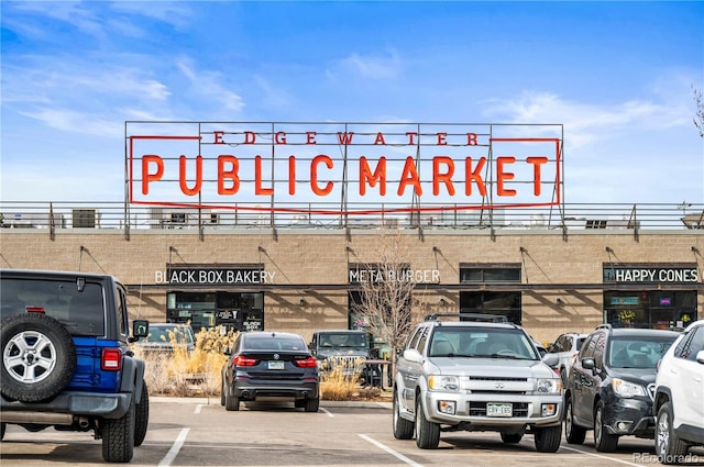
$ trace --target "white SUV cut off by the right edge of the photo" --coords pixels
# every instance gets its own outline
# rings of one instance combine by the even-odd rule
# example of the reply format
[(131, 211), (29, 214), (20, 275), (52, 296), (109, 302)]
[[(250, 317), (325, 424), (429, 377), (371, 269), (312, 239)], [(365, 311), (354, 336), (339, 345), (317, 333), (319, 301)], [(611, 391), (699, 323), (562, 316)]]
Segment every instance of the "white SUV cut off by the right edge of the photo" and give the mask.
[(704, 445), (704, 320), (690, 324), (662, 356), (656, 378), (656, 453), (662, 464), (688, 460)]

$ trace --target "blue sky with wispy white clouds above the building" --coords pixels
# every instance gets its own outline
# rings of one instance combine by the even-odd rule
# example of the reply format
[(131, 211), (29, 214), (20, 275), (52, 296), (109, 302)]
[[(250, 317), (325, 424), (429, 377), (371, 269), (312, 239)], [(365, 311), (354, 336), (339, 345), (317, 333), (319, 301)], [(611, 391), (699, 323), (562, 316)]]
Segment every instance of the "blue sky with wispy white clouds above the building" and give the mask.
[(124, 122), (564, 124), (568, 203), (704, 202), (704, 2), (0, 2), (4, 201), (120, 201)]

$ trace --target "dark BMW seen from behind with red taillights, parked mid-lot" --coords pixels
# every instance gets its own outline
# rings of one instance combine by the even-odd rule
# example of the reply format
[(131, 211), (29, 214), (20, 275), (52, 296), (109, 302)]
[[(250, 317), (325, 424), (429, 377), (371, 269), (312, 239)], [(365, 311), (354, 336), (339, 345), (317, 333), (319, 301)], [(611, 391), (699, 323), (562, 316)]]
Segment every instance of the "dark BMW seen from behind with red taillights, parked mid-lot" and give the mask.
[(220, 403), (240, 410), (257, 398), (289, 398), (296, 408), (317, 412), (318, 365), (302, 336), (279, 332), (241, 333), (222, 368)]

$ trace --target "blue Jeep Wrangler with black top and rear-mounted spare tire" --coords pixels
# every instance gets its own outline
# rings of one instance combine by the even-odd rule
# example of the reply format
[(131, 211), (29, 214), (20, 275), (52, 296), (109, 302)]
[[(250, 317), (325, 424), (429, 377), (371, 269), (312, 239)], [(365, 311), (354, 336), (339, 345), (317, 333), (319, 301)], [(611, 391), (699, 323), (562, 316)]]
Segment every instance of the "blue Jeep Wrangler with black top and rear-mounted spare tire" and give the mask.
[(102, 458), (129, 463), (144, 441), (144, 362), (129, 344), (148, 335), (112, 276), (0, 269), (0, 426), (95, 433)]

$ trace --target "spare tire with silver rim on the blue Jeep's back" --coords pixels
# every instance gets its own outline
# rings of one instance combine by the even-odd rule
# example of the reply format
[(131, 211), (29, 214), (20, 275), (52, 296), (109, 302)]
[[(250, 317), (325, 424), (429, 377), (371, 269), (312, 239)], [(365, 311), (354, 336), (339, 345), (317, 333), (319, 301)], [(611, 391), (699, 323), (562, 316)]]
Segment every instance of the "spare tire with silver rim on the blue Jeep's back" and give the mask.
[(8, 318), (1, 327), (2, 396), (40, 402), (64, 390), (76, 369), (76, 347), (68, 330), (43, 313)]

